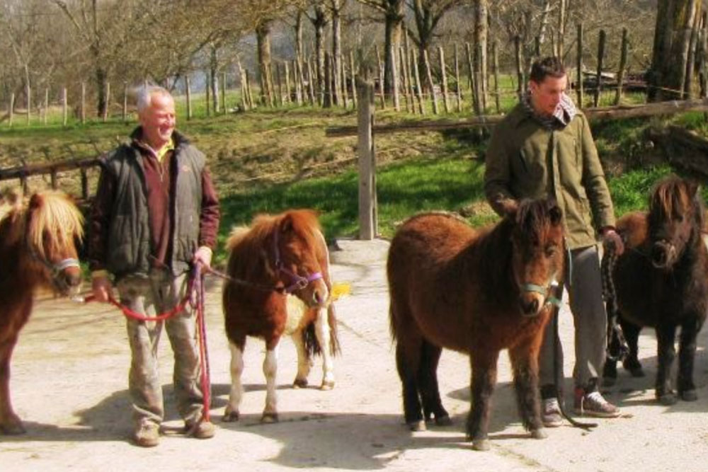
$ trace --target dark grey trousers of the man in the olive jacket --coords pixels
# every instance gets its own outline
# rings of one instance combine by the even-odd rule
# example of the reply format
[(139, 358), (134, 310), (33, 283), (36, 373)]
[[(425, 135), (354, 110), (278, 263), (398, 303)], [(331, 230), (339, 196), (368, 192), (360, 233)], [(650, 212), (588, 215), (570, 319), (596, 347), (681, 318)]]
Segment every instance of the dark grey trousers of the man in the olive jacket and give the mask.
[[(570, 264), (566, 264), (565, 288), (570, 297), (571, 313), (575, 326), (575, 356), (573, 380), (576, 386), (585, 386), (588, 380), (600, 376), (605, 364), (607, 343), (607, 313), (603, 303), (603, 283), (600, 275), (600, 258), (597, 246), (571, 251)], [(571, 277), (568, 277), (569, 271)], [(570, 283), (569, 283), (570, 282)], [(557, 360), (563, 368), (563, 347), (558, 342)], [(555, 384), (554, 380), (554, 330), (550, 321), (544, 332), (539, 354), (540, 384)], [(562, 380), (561, 376), (561, 380)], [(562, 389), (562, 386), (559, 386)]]

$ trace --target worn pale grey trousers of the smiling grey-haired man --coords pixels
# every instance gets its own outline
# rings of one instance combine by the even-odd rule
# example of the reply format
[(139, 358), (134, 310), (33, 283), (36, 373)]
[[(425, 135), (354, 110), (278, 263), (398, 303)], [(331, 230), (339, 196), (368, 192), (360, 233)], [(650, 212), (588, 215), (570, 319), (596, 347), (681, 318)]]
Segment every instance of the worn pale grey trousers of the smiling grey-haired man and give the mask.
[[(175, 278), (164, 271), (156, 271), (148, 278), (125, 277), (118, 282), (120, 302), (138, 313), (156, 316), (181, 301), (187, 280), (186, 274)], [(196, 317), (190, 311), (185, 309), (166, 321), (126, 318), (131, 353), (128, 386), (137, 427), (144, 422), (159, 424), (164, 419), (157, 360), (163, 325), (174, 353), (173, 386), (178, 413), (185, 422), (195, 422), (201, 416), (203, 396)]]

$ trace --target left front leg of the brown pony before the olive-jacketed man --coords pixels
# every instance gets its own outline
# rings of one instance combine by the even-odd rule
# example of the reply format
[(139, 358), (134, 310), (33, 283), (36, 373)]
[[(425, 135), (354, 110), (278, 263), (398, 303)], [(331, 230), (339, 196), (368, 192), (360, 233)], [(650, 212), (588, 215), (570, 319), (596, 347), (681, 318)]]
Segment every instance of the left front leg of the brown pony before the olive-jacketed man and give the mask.
[(496, 384), (496, 362), (499, 351), (475, 350), (470, 356), (472, 364), (472, 410), (467, 416), (467, 436), (472, 439), (472, 449), (489, 450), (489, 409)]

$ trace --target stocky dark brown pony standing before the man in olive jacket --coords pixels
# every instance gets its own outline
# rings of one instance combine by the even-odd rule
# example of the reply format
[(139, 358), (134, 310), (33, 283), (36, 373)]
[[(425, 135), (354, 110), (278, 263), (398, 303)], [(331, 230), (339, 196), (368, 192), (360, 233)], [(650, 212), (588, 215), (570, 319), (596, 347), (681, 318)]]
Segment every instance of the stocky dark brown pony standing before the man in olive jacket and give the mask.
[(525, 200), (491, 229), (428, 213), (396, 231), (387, 263), (391, 331), (412, 430), (424, 430), (430, 415), (438, 424), (450, 422), (436, 372), (446, 347), (470, 356), (467, 434), (474, 449), (489, 449), (496, 364), (508, 349), (523, 425), (532, 437), (545, 437), (538, 352), (563, 275), (561, 218), (554, 201)]

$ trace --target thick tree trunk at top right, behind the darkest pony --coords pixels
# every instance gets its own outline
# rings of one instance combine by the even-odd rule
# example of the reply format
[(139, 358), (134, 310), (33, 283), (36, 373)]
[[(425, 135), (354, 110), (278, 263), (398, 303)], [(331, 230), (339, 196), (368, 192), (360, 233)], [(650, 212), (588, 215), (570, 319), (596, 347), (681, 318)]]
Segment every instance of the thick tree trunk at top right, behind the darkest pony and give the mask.
[(691, 31), (701, 0), (659, 0), (649, 71), (650, 101), (683, 97)]

